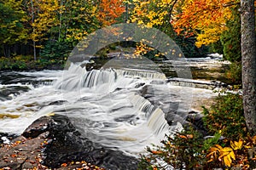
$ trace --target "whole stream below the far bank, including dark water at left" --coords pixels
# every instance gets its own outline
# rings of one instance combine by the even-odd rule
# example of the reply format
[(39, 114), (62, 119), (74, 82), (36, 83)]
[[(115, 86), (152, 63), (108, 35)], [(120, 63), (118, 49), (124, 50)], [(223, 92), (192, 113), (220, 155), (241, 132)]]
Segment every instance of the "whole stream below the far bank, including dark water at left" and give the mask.
[[(62, 114), (93, 142), (138, 156), (182, 129), (191, 99), (216, 95), (166, 80), (160, 71), (86, 71), (79, 64), (65, 71), (0, 72), (0, 132), (19, 134), (40, 116)], [(180, 119), (170, 126), (166, 114)]]

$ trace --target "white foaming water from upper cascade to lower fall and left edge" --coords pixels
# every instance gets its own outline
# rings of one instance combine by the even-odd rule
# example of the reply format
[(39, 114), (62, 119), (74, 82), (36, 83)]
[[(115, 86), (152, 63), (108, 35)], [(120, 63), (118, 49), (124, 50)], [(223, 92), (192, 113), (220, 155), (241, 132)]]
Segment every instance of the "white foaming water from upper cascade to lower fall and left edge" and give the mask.
[[(55, 78), (53, 78), (55, 79)], [(164, 112), (140, 95), (164, 74), (150, 71), (92, 70), (70, 65), (54, 83), (32, 88), (0, 104), (0, 132), (22, 133), (40, 116), (67, 115), (95, 143), (138, 156), (170, 133)]]

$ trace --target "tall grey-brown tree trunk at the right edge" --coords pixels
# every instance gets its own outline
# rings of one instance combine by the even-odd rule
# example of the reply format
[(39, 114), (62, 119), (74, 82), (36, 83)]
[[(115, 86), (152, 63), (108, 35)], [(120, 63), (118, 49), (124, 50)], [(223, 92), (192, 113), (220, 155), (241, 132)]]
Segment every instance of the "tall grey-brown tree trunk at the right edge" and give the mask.
[(241, 65), (244, 116), (256, 135), (256, 39), (254, 0), (241, 0)]

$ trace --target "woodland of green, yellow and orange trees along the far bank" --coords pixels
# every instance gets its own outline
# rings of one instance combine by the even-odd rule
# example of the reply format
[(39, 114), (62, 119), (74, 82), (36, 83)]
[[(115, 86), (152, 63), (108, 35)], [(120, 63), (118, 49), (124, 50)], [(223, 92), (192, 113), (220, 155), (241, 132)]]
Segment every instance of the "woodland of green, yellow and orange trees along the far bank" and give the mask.
[(0, 55), (60, 62), (91, 32), (137, 22), (165, 32), (186, 57), (218, 52), (240, 61), (239, 8), (230, 0), (2, 0)]

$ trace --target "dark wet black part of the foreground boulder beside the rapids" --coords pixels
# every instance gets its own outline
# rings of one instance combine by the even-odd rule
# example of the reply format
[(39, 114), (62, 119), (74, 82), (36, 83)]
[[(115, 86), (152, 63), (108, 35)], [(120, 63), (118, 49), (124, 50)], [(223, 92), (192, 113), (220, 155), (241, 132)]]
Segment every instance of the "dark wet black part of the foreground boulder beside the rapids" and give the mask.
[(91, 142), (79, 133), (67, 116), (43, 116), (22, 135), (35, 138), (44, 132), (49, 132), (43, 150), (43, 164), (47, 167), (60, 167), (68, 161), (87, 161), (107, 169), (137, 169), (135, 157)]

